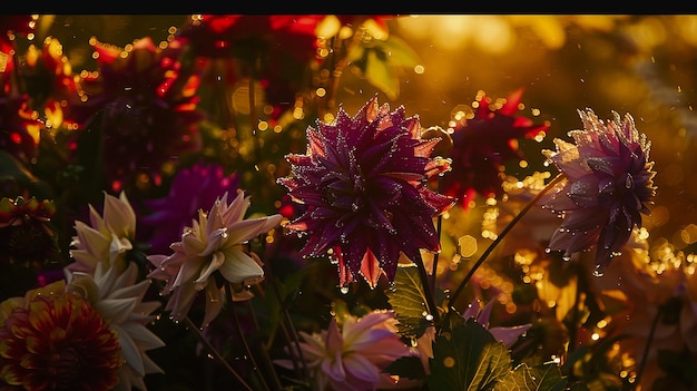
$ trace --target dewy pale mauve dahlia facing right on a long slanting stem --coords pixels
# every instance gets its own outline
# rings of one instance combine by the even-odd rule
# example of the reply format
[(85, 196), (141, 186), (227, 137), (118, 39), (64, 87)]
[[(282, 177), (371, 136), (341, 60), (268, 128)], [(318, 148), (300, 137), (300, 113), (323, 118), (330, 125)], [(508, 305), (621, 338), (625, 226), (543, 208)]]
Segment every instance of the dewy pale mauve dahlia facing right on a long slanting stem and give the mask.
[(549, 248), (572, 253), (597, 247), (596, 274), (627, 244), (641, 213), (656, 195), (651, 143), (639, 134), (631, 115), (603, 123), (591, 110), (578, 110), (582, 130), (571, 130), (576, 145), (554, 139), (557, 150), (542, 153), (561, 170), (566, 180), (546, 195), (543, 208), (561, 213), (563, 222), (552, 235)]

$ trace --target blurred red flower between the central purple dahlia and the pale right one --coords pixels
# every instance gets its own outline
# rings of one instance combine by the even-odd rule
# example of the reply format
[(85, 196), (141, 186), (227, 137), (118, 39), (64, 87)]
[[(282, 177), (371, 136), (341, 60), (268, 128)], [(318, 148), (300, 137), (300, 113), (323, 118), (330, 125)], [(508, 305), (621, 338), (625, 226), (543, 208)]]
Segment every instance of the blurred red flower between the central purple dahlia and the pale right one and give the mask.
[(484, 95), (472, 119), (463, 119), (453, 128), (452, 170), (443, 175), (443, 194), (458, 197), (463, 208), (475, 194), (501, 197), (503, 164), (524, 158), (518, 148), (521, 137), (533, 138), (549, 126), (534, 125), (531, 119), (516, 116), (523, 90), (511, 94), (500, 108), (491, 106)]

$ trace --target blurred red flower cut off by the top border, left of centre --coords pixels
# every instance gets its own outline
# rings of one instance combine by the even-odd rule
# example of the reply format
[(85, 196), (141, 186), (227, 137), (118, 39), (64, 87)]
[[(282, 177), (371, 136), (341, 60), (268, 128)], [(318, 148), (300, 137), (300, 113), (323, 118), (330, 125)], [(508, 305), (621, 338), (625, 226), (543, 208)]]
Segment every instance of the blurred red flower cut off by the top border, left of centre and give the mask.
[[(272, 118), (292, 107), (318, 60), (315, 28), (325, 16), (204, 14), (189, 19), (177, 37), (187, 42), (203, 82), (234, 87), (247, 78), (264, 88)], [(246, 81), (245, 81), (246, 82)]]

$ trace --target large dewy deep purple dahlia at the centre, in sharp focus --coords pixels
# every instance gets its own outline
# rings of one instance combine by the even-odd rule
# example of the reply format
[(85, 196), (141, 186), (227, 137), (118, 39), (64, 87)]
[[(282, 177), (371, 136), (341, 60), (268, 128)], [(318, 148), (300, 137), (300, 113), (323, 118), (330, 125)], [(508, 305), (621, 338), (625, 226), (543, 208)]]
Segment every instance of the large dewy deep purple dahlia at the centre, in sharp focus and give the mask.
[(303, 256), (332, 254), (341, 285), (362, 275), (375, 286), (394, 280), (400, 252), (420, 258), (439, 252), (433, 217), (454, 199), (429, 189), (428, 179), (449, 169), (430, 158), (440, 139), (422, 139), (419, 117), (390, 111), (375, 96), (353, 117), (340, 107), (333, 124), (307, 128), (306, 155), (289, 154), (292, 176), (278, 179), (305, 212), (286, 225), (307, 234)]

